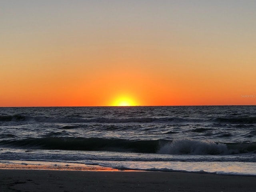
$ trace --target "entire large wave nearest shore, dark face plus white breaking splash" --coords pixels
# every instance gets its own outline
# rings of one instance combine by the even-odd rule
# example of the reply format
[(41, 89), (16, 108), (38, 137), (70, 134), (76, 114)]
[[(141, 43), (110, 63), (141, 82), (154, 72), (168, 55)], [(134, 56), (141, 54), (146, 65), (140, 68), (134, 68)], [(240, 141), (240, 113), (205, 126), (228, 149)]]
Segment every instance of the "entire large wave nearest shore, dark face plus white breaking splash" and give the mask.
[(25, 149), (114, 151), (158, 154), (245, 154), (256, 153), (256, 142), (215, 143), (199, 140), (125, 140), (106, 138), (61, 137), (65, 132), (50, 133), (44, 138), (1, 140), (0, 146)]

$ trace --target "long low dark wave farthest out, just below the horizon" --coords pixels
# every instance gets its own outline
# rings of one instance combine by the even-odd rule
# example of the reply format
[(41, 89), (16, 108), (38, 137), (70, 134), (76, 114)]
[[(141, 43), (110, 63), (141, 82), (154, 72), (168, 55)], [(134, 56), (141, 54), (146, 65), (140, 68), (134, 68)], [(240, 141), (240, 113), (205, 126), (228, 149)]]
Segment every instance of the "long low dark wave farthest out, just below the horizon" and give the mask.
[[(96, 116), (78, 116), (69, 115), (66, 117), (52, 117), (52, 116), (25, 116), (22, 114), (15, 115), (1, 115), (0, 122), (51, 122), (51, 123), (87, 123), (87, 122), (99, 122), (99, 123), (186, 123), (186, 122), (216, 122), (221, 126), (223, 123), (229, 124), (256, 124), (256, 117), (230, 117), (230, 118), (211, 118), (211, 119), (193, 119), (193, 118), (179, 118), (179, 117), (140, 117), (140, 118), (106, 118)], [(204, 132), (206, 129), (196, 129), (194, 132)]]

